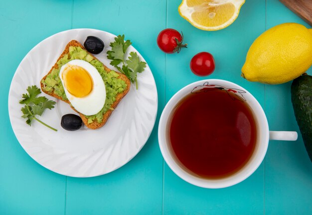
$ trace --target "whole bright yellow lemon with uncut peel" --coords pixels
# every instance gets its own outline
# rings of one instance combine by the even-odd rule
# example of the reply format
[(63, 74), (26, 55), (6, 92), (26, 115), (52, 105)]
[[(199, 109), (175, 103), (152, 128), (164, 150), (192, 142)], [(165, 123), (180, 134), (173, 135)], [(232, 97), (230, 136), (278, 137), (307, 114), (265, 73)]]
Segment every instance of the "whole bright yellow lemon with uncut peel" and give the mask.
[(312, 65), (312, 29), (297, 23), (277, 25), (251, 45), (242, 77), (279, 84), (295, 79)]

